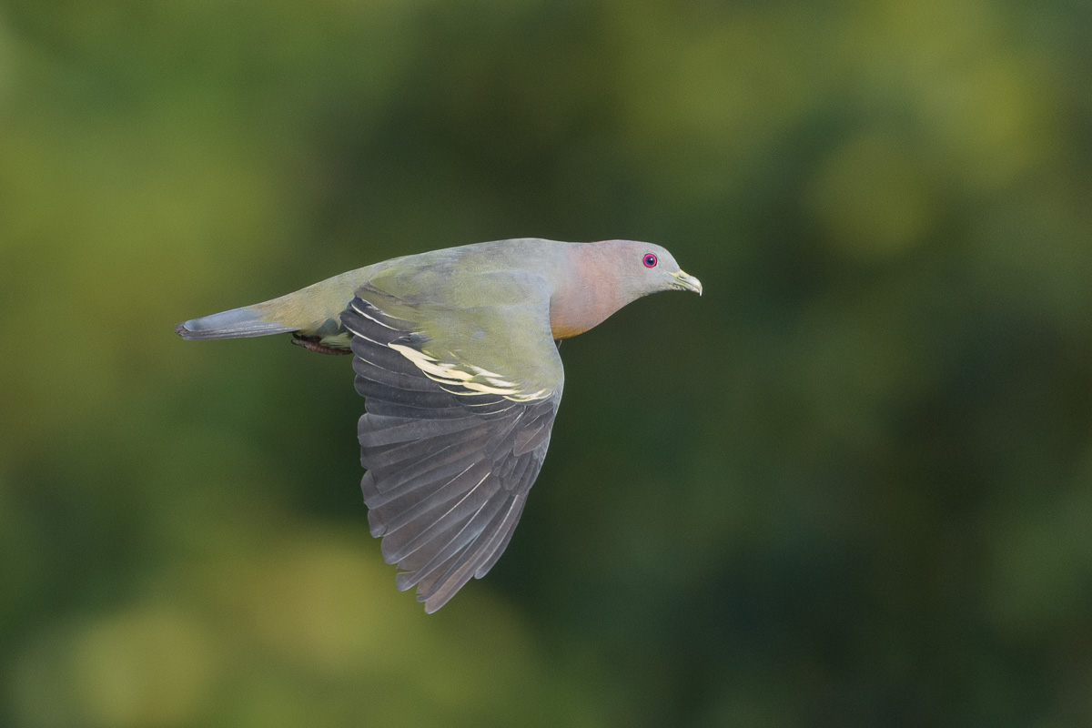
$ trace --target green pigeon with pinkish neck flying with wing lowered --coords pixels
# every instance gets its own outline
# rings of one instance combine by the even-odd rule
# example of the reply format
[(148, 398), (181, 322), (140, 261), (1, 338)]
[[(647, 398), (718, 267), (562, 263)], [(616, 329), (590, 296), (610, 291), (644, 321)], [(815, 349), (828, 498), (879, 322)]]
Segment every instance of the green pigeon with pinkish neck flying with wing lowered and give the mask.
[(521, 238), (395, 258), (176, 332), (353, 355), (371, 535), (434, 612), (512, 537), (561, 402), (560, 341), (672, 289), (701, 283), (660, 246)]

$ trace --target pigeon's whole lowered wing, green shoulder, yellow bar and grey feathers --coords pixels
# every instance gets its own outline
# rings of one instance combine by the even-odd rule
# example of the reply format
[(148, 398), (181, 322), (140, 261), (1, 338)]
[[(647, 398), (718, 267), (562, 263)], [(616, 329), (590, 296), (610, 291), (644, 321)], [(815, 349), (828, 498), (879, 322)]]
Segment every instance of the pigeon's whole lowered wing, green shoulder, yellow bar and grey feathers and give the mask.
[[(397, 588), (416, 585), (427, 612), (500, 558), (546, 456), (563, 377), (548, 300), (534, 298), (468, 323), (366, 285), (342, 313), (366, 398), (358, 437), (371, 535), (403, 570)], [(488, 368), (466, 359), (490, 346)], [(529, 358), (535, 366), (521, 369)]]

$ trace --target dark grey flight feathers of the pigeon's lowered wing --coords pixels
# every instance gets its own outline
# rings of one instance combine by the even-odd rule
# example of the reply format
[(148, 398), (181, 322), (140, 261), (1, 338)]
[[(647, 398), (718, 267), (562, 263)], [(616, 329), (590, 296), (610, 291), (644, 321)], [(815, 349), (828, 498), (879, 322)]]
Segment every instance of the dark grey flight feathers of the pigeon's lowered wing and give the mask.
[(436, 611), (492, 568), (512, 538), (549, 444), (560, 392), (531, 402), (461, 392), (389, 347), (413, 324), (359, 296), (342, 313), (353, 334), (358, 438), (372, 536), (397, 563), (400, 589)]

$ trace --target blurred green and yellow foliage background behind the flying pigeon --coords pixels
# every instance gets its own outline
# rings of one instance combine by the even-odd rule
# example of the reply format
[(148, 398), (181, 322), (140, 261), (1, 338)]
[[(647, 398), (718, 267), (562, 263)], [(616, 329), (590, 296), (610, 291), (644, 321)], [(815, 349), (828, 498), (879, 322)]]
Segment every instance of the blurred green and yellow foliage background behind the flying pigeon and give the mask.
[[(1090, 8), (0, 0), (0, 725), (1092, 725)], [(705, 296), (426, 617), (348, 360), (174, 325), (522, 236)]]

